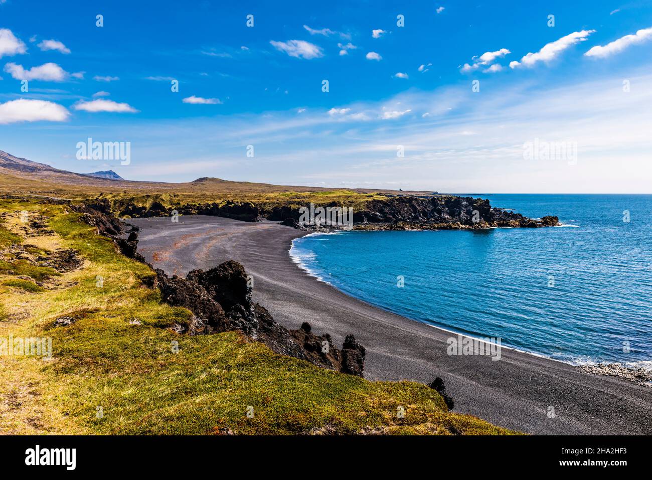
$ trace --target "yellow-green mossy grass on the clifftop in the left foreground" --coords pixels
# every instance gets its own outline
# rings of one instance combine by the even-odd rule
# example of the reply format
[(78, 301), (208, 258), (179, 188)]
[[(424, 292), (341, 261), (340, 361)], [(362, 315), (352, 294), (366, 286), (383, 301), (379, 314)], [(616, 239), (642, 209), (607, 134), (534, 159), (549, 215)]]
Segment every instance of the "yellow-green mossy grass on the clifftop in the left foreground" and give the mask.
[[(48, 218), (55, 233), (16, 234), (25, 210)], [(23, 200), (0, 200), (1, 212), (3, 256), (29, 241), (41, 252), (74, 248), (84, 261), (61, 274), (19, 265), (23, 279), (11, 258), (0, 264), (11, 266), (0, 267), (0, 338), (52, 337), (53, 350), (51, 361), (0, 355), (0, 433), (513, 433), (447, 412), (426, 385), (314, 367), (237, 332), (179, 335), (171, 327), (190, 312), (160, 303), (143, 285), (153, 271), (117, 254), (78, 214)], [(54, 326), (61, 316), (76, 321)]]

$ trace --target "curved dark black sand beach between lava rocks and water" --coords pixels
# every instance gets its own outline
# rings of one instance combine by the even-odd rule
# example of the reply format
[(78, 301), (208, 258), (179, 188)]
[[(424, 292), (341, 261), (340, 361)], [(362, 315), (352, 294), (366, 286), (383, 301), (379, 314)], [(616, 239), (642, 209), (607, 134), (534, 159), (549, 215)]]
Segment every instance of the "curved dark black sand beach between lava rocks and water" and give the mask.
[(304, 235), (299, 230), (200, 215), (179, 217), (178, 223), (170, 217), (128, 222), (141, 227), (138, 251), (168, 275), (237, 260), (254, 277), (254, 300), (282, 325), (295, 329), (309, 322), (336, 344), (353, 333), (366, 348), (365, 378), (428, 383), (441, 376), (455, 412), (533, 434), (652, 434), (651, 388), (507, 348), (499, 361), (449, 356), (446, 340), (453, 334), (306, 275), (288, 254), (291, 241)]

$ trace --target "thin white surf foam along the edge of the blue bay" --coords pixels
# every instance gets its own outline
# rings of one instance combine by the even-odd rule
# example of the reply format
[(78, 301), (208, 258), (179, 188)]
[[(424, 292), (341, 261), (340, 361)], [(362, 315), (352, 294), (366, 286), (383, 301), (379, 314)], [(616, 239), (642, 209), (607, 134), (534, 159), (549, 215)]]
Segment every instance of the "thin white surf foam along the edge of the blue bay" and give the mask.
[[(576, 226), (576, 225), (564, 225), (564, 224), (556, 225), (554, 228), (559, 228), (559, 227), (563, 227), (563, 226), (570, 226), (570, 227), (579, 228), (579, 226)], [(492, 228), (514, 228), (514, 227), (488, 227), (488, 229), (492, 229)], [(355, 230), (353, 230), (353, 231), (355, 232)], [(362, 230), (362, 231), (364, 231), (364, 230)], [(412, 232), (428, 232), (428, 231), (429, 230), (412, 230)], [(423, 323), (424, 325), (428, 325), (428, 327), (432, 327), (432, 328), (435, 328), (437, 330), (445, 331), (447, 333), (451, 333), (452, 335), (462, 335), (462, 337), (475, 338), (476, 340), (483, 340), (484, 338), (486, 338), (486, 337), (481, 337), (480, 334), (463, 333), (463, 332), (460, 332), (460, 331), (447, 329), (447, 328), (442, 327), (440, 325), (434, 325), (434, 323), (430, 323), (427, 320), (419, 320), (417, 318), (411, 318), (411, 317), (406, 316), (404, 314), (401, 314), (399, 312), (394, 312), (390, 308), (383, 307), (382, 305), (376, 305), (376, 304), (370, 303), (370, 302), (368, 302), (368, 301), (366, 301), (366, 300), (364, 300), (362, 298), (356, 297), (355, 295), (353, 295), (351, 293), (345, 292), (344, 290), (342, 290), (338, 286), (332, 284), (331, 282), (328, 282), (327, 280), (324, 280), (323, 277), (319, 277), (317, 273), (314, 273), (314, 272), (310, 271), (310, 269), (308, 269), (308, 267), (304, 263), (302, 263), (301, 260), (299, 260), (299, 258), (297, 256), (292, 254), (292, 248), (294, 248), (295, 241), (298, 240), (298, 239), (309, 237), (311, 235), (336, 235), (336, 234), (338, 234), (338, 232), (346, 232), (346, 230), (334, 230), (333, 232), (306, 232), (304, 235), (298, 236), (297, 238), (295, 238), (295, 239), (293, 239), (291, 241), (291, 245), (290, 245), (290, 248), (288, 250), (288, 255), (289, 255), (290, 260), (293, 263), (296, 263), (297, 265), (299, 265), (299, 268), (301, 268), (301, 270), (303, 270), (304, 273), (306, 273), (306, 275), (308, 275), (308, 276), (310, 276), (312, 278), (315, 278), (319, 282), (323, 282), (323, 283), (331, 286), (332, 288), (338, 290), (338, 292), (342, 292), (344, 295), (348, 295), (349, 297), (354, 298), (354, 299), (356, 299), (358, 301), (367, 303), (368, 305), (370, 305), (370, 307), (379, 308), (380, 310), (383, 310), (385, 312), (388, 312), (388, 313), (391, 313), (391, 314), (394, 314), (394, 315), (401, 316), (402, 318), (406, 318), (407, 320), (412, 320), (413, 322)], [(634, 371), (636, 371), (636, 370), (638, 370), (640, 368), (644, 368), (645, 370), (650, 370), (650, 374), (652, 376), (652, 359), (650, 359), (650, 360), (641, 360), (641, 361), (635, 362), (634, 365), (627, 365), (627, 363), (622, 363), (622, 362), (619, 362), (619, 361), (586, 361), (585, 363), (574, 363), (573, 361), (560, 360), (560, 359), (556, 359), (554, 357), (550, 357), (550, 355), (546, 355), (545, 353), (528, 352), (527, 350), (522, 350), (520, 348), (516, 348), (516, 347), (505, 345), (505, 344), (501, 344), (501, 348), (505, 348), (505, 349), (508, 349), (508, 350), (514, 350), (514, 352), (526, 353), (527, 355), (533, 355), (535, 357), (540, 357), (540, 358), (544, 358), (544, 359), (547, 359), (547, 360), (550, 360), (550, 361), (563, 363), (565, 365), (570, 365), (571, 367), (576, 367), (576, 368), (597, 367), (596, 368), (596, 370), (597, 370), (599, 368), (605, 368), (606, 369), (606, 367), (614, 367), (615, 366), (615, 367), (626, 368), (627, 370), (632, 370), (632, 372), (634, 372)], [(630, 362), (630, 363), (632, 363), (632, 362)], [(623, 377), (623, 378), (629, 378), (629, 377)], [(635, 382), (635, 380), (633, 380), (633, 379), (630, 379), (630, 380), (632, 380), (632, 382)], [(651, 378), (651, 382), (652, 382), (652, 378)], [(652, 383), (649, 386), (652, 387)]]

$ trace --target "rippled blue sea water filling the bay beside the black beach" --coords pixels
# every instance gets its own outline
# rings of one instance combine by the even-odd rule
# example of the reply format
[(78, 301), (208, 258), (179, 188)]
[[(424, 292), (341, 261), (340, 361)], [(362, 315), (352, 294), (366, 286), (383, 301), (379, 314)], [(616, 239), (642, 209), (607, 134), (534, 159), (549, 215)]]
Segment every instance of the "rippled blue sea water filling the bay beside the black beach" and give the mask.
[(472, 196), (564, 226), (312, 234), (290, 254), (413, 320), (574, 365), (652, 366), (652, 195)]

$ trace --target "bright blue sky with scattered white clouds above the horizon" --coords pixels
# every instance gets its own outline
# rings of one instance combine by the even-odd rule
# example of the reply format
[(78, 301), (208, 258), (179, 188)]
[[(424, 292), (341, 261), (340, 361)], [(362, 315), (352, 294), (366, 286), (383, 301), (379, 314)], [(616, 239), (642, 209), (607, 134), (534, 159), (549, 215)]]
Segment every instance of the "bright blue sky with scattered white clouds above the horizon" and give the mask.
[[(537, 3), (0, 0), (0, 149), (138, 180), (652, 192), (652, 2)], [(89, 137), (130, 164), (77, 160)]]

